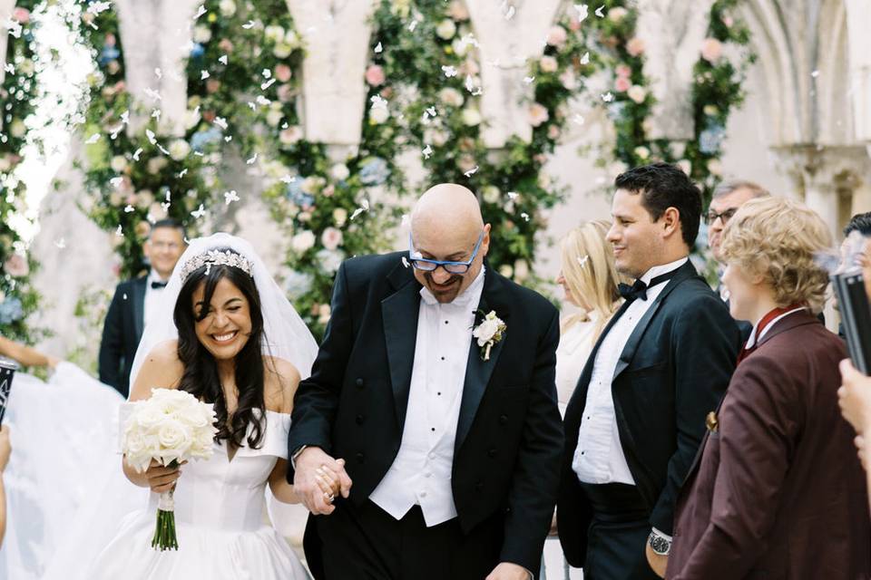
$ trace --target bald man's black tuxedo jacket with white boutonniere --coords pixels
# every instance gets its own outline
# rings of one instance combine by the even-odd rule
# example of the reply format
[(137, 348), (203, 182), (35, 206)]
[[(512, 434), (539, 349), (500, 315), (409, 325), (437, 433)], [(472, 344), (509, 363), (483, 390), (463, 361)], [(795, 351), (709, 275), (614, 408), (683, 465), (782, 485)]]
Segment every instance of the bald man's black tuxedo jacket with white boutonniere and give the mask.
[[(339, 268), (327, 334), (294, 401), (290, 453), (310, 445), (345, 458), (357, 505), (392, 465), (406, 420), (421, 286), (402, 256), (356, 257)], [(486, 362), (469, 330), (455, 506), (465, 533), (503, 514), (501, 560), (538, 570), (563, 450), (554, 385), (559, 314), (489, 267), (478, 310), (495, 311), (507, 328)]]

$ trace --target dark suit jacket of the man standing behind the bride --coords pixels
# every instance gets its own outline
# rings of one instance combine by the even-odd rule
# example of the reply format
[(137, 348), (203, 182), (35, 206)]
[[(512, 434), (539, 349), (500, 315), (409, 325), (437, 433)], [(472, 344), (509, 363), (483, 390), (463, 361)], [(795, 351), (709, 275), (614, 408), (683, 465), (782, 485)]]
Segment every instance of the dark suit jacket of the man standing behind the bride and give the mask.
[(130, 370), (145, 324), (147, 281), (148, 276), (142, 276), (119, 284), (103, 323), (98, 360), (100, 382), (112, 385), (125, 397), (130, 392)]

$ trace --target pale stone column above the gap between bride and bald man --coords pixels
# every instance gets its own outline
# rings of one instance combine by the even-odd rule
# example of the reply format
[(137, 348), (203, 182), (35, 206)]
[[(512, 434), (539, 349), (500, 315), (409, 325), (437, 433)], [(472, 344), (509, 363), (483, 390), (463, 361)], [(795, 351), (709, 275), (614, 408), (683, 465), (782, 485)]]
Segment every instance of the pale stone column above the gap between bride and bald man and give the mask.
[(302, 120), (306, 139), (357, 145), (366, 108), (364, 74), (375, 0), (287, 0), (306, 39)]

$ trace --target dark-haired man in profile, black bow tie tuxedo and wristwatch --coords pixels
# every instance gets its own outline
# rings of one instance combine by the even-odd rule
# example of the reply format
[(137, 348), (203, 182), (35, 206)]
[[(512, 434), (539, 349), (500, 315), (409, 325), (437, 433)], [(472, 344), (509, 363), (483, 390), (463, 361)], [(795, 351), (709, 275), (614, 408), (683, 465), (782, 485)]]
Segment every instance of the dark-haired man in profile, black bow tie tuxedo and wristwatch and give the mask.
[[(589, 580), (665, 574), (678, 491), (740, 347), (726, 305), (689, 260), (701, 193), (679, 168), (617, 177), (608, 239), (626, 302), (565, 412), (557, 520)], [(654, 572), (655, 570), (655, 572)]]

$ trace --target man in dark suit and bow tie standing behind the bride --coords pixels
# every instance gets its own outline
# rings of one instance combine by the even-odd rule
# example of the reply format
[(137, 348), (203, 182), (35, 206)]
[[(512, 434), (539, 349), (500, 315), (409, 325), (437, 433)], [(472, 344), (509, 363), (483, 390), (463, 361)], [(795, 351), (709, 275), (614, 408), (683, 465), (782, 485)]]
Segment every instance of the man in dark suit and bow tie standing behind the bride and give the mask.
[(161, 219), (152, 226), (142, 247), (145, 257), (151, 262), (151, 270), (147, 275), (125, 280), (115, 289), (103, 323), (98, 365), (100, 381), (113, 386), (125, 397), (130, 391), (130, 370), (145, 322), (154, 312), (185, 247), (185, 231), (181, 223)]

